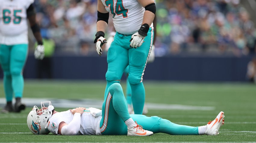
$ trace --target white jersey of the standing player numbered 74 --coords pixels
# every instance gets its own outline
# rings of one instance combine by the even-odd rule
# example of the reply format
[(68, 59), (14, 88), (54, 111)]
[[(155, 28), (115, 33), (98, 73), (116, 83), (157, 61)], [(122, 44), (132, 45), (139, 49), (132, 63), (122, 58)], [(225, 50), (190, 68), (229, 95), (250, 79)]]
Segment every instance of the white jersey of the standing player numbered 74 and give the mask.
[(114, 27), (118, 33), (134, 34), (138, 32), (142, 25), (145, 8), (137, 0), (101, 1), (106, 7), (106, 10), (112, 13)]

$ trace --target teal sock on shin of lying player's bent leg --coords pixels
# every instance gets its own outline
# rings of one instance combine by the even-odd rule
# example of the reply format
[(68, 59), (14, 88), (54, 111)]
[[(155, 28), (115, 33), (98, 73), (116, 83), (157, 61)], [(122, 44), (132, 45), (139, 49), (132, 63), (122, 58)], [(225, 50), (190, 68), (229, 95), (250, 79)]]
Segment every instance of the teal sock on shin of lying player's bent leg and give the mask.
[(120, 84), (113, 84), (109, 88), (109, 92), (112, 95), (113, 107), (117, 114), (122, 118), (123, 121), (131, 118), (128, 108), (127, 102), (123, 95), (123, 89)]

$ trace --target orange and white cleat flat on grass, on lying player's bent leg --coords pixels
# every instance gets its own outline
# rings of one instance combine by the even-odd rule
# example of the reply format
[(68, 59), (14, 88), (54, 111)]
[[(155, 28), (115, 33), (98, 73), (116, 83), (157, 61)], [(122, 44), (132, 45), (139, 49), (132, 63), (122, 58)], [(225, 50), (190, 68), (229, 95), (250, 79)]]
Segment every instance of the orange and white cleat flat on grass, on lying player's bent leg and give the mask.
[[(137, 124), (136, 121), (135, 123)], [(142, 126), (138, 124), (135, 127), (128, 128), (128, 132), (127, 132), (127, 136), (150, 136), (152, 134), (153, 132), (144, 130)]]

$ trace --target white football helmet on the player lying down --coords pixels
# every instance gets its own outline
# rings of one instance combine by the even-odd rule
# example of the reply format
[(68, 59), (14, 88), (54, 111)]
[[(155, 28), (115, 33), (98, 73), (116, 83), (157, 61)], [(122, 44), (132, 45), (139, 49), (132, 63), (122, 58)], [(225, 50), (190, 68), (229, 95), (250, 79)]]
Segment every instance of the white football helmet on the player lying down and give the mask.
[[(46, 105), (46, 106), (45, 106)], [(42, 108), (48, 107), (47, 109), (43, 110)], [(36, 135), (48, 134), (50, 131), (47, 128), (47, 122), (49, 118), (52, 117), (52, 110), (54, 107), (52, 106), (51, 101), (43, 101), (41, 102), (41, 109), (42, 111), (37, 112), (40, 110), (38, 107), (34, 106), (32, 111), (27, 116), (27, 125), (29, 130)], [(42, 113), (39, 115), (39, 113)]]

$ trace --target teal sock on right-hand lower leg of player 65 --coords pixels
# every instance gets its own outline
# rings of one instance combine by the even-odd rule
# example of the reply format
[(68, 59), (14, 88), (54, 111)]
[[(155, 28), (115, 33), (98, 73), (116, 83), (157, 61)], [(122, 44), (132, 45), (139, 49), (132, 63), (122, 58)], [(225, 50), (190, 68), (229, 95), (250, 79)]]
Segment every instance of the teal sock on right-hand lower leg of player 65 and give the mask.
[(15, 98), (22, 98), (24, 89), (24, 79), (21, 74), (12, 75), (12, 87)]

